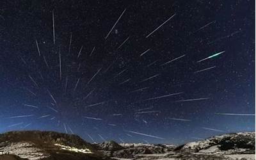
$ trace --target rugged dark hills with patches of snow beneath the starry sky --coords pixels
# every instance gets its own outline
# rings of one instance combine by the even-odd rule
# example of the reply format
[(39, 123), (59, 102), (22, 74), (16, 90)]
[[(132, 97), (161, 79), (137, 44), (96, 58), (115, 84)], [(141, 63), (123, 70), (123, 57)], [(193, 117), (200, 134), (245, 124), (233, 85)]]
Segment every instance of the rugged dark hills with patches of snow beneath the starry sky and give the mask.
[(0, 134), (0, 160), (49, 159), (255, 159), (255, 132), (214, 136), (180, 146), (90, 144), (76, 135), (46, 131)]

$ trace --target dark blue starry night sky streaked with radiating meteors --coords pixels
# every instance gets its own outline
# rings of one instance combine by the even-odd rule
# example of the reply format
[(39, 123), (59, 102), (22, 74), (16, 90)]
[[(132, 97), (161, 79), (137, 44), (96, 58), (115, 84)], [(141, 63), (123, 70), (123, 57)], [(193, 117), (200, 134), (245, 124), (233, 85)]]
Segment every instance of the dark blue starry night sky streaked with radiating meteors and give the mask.
[(255, 131), (255, 1), (1, 1), (0, 132), (185, 143)]

